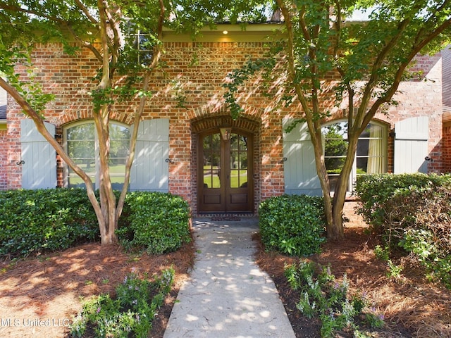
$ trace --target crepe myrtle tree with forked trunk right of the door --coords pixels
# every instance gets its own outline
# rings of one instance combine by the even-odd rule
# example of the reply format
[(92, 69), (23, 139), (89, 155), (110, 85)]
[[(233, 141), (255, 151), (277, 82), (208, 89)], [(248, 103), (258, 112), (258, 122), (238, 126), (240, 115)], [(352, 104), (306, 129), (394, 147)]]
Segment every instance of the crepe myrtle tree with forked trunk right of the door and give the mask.
[[(281, 100), (302, 107), (302, 121), (308, 125), (325, 197), (327, 236), (342, 239), (342, 210), (359, 135), (377, 111), (395, 104), (393, 96), (400, 82), (421, 76), (409, 73), (415, 56), (434, 54), (450, 42), (451, 1), (276, 0), (275, 8), (284, 34), (273, 44), (268, 58), (249, 61), (245, 68), (230, 73), (225, 97), (234, 115), (239, 115), (240, 85), (254, 73), (272, 69), (276, 58), (284, 56), (285, 77), (280, 78), (287, 80)], [(347, 23), (357, 10), (368, 11), (368, 20)], [(329, 115), (321, 94), (330, 82), (323, 80), (331, 72), (339, 77), (333, 87), (335, 104), (347, 107), (348, 135), (333, 199), (321, 134), (321, 123)]]

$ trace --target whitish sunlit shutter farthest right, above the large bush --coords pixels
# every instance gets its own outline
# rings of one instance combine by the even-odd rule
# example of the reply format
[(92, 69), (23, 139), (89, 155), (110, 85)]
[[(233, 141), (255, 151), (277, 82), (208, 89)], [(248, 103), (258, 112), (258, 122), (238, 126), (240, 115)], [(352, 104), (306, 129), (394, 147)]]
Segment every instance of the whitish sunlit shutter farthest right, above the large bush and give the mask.
[(408, 118), (395, 124), (394, 173), (427, 173), (429, 119)]

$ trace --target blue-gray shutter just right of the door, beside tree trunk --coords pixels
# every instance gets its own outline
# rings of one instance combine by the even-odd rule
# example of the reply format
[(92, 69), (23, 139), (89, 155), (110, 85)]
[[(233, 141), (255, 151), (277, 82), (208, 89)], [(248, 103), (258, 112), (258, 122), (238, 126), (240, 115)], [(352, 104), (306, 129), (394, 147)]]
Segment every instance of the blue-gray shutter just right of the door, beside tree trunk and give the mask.
[(283, 119), (283, 156), (286, 158), (283, 171), (286, 194), (322, 196), (323, 191), (316, 173), (315, 153), (311, 144), (307, 123), (299, 123), (289, 133), (286, 127), (292, 119)]

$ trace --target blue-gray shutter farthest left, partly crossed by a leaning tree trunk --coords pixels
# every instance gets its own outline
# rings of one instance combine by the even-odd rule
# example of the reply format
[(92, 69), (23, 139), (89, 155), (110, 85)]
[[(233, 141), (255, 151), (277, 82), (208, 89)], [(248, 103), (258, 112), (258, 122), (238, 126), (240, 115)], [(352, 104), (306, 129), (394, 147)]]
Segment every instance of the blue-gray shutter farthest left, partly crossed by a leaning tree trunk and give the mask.
[[(55, 126), (44, 122), (50, 134)], [(20, 121), (20, 144), (23, 189), (47, 189), (56, 187), (56, 151), (37, 131), (33, 120)]]

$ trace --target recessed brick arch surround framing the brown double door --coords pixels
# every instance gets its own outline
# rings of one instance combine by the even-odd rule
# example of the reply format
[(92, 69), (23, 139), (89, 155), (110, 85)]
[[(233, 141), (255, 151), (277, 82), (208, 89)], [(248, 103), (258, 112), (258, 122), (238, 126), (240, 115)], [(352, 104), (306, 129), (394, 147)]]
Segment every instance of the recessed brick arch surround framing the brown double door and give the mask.
[[(197, 117), (192, 119), (191, 123), (192, 132), (192, 192), (193, 196), (197, 196), (198, 193), (198, 161), (199, 161), (199, 135), (211, 130), (219, 130), (220, 127), (231, 127), (233, 131), (243, 132), (245, 134), (252, 135), (252, 204), (253, 213), (257, 213), (257, 206), (260, 201), (260, 130), (261, 120), (255, 116), (242, 115), (240, 118), (233, 120), (230, 115), (217, 111), (212, 115)], [(192, 201), (193, 213), (199, 213), (199, 204), (196, 199)]]

